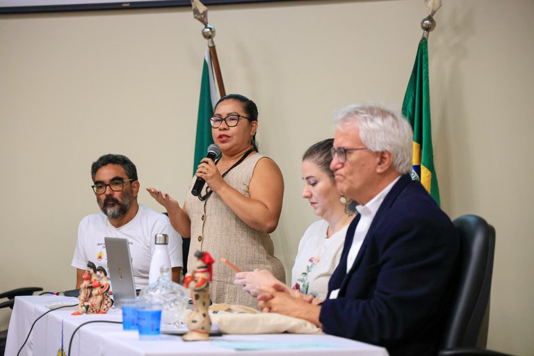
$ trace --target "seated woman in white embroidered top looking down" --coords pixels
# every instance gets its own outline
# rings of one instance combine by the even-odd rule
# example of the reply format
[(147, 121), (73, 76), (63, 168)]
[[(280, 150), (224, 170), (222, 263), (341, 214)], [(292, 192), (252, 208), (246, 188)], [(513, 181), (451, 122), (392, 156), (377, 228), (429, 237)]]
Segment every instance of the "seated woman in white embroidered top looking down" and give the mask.
[[(321, 300), (326, 298), (328, 281), (341, 258), (345, 234), (356, 206), (337, 192), (330, 170), (333, 141), (329, 138), (318, 142), (302, 156), (302, 179), (305, 181), (302, 197), (322, 219), (310, 225), (300, 239), (291, 273), (293, 289)], [(236, 273), (234, 284), (242, 285), (244, 291), (255, 297), (259, 294), (258, 286), (270, 286), (275, 282), (278, 281), (268, 270), (253, 270)]]

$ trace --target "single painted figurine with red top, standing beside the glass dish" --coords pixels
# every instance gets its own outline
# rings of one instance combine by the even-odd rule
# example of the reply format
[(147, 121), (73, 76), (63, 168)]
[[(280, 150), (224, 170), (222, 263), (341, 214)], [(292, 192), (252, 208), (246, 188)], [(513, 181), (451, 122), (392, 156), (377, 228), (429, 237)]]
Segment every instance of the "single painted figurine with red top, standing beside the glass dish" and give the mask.
[(209, 282), (213, 275), (211, 265), (213, 259), (208, 252), (195, 252), (195, 270), (188, 272), (184, 278), (184, 286), (189, 289), (193, 300), (193, 311), (187, 318), (189, 332), (181, 337), (184, 341), (209, 340), (211, 319), (208, 308)]

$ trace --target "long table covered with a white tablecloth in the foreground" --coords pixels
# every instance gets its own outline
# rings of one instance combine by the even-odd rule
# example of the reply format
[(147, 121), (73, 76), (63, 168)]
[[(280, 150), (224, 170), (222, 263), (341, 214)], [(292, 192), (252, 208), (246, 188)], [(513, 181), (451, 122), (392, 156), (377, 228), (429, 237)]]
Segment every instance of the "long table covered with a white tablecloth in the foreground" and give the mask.
[[(387, 356), (387, 350), (327, 334), (223, 334), (209, 341), (182, 341), (172, 334), (157, 340), (139, 340), (138, 332), (122, 330), (122, 313), (113, 307), (108, 314), (72, 316), (77, 298), (64, 296), (22, 296), (15, 298), (11, 314), (6, 355), (365, 355)], [(74, 333), (77, 327), (83, 325)], [(106, 323), (118, 322), (118, 323)], [(72, 346), (69, 343), (72, 337)]]

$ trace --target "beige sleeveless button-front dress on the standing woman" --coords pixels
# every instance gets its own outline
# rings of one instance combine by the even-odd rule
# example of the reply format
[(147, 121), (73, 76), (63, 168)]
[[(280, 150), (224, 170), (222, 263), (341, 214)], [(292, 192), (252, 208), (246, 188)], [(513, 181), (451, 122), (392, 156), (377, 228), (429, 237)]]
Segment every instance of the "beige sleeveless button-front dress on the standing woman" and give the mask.
[[(252, 173), (257, 162), (263, 158), (268, 159), (261, 154), (250, 154), (245, 161), (228, 172), (225, 181), (245, 197), (250, 197)], [(193, 177), (191, 186), (195, 180), (196, 177)], [(206, 188), (207, 185), (202, 188), (201, 195), (206, 194)], [(244, 271), (255, 268), (270, 270), (278, 280), (285, 283), (284, 266), (274, 255), (275, 248), (269, 234), (243, 223), (216, 193), (212, 193), (204, 202), (189, 193), (186, 209), (191, 219), (191, 247), (187, 269), (194, 269), (195, 251), (211, 254), (215, 260), (210, 290), (212, 302), (258, 307), (256, 298), (243, 291), (241, 286), (234, 285), (236, 272), (221, 262), (220, 257), (225, 257)]]

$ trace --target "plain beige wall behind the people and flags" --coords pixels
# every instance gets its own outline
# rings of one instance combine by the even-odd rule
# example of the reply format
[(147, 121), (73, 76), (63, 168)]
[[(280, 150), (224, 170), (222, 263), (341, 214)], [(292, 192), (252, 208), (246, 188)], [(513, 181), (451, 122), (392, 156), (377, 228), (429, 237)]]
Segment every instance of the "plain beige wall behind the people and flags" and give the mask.
[[(489, 347), (519, 355), (534, 355), (532, 13), (530, 0), (448, 0), (430, 36), (442, 205), (496, 227)], [(333, 135), (334, 108), (401, 106), (425, 16), (423, 0), (211, 6), (227, 92), (257, 102), (262, 152), (284, 173), (273, 239), (288, 271), (316, 219), (300, 197), (302, 152)], [(200, 29), (189, 8), (0, 16), (0, 290), (74, 287), (101, 154), (126, 154), (142, 186), (184, 200)], [(146, 192), (140, 202), (159, 209)]]

